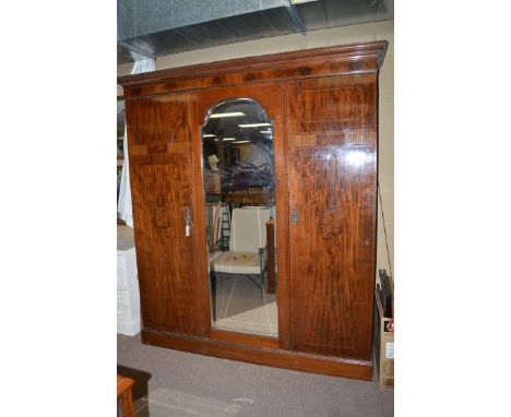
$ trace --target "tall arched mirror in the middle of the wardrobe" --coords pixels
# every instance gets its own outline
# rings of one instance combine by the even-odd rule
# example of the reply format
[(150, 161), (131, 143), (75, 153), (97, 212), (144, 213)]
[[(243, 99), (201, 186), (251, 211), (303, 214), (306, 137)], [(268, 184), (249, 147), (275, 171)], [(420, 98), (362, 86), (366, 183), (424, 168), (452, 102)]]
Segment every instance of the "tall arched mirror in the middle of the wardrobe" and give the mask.
[(258, 102), (210, 108), (202, 178), (211, 325), (277, 337), (273, 122)]

